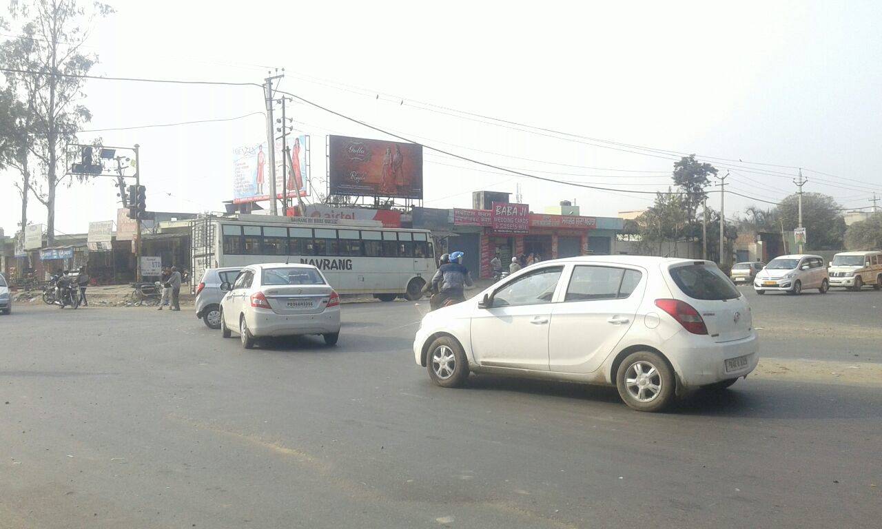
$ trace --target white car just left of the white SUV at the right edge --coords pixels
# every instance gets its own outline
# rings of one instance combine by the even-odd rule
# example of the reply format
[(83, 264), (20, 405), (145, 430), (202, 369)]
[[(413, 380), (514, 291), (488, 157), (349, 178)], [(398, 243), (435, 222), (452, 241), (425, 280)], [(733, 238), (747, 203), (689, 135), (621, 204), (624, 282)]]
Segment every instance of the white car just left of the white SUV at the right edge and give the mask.
[(821, 294), (830, 288), (830, 277), (820, 256), (775, 257), (753, 279), (757, 294), (779, 291), (799, 295), (806, 288), (817, 288)]

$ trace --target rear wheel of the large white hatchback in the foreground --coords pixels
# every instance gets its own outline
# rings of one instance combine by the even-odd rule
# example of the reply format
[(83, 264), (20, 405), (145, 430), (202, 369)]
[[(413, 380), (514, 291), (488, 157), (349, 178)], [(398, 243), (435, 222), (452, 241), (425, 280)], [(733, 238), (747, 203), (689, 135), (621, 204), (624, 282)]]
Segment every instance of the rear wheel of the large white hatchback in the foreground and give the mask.
[(675, 396), (674, 370), (661, 354), (639, 351), (618, 366), (616, 385), (624, 403), (639, 412), (659, 412)]

